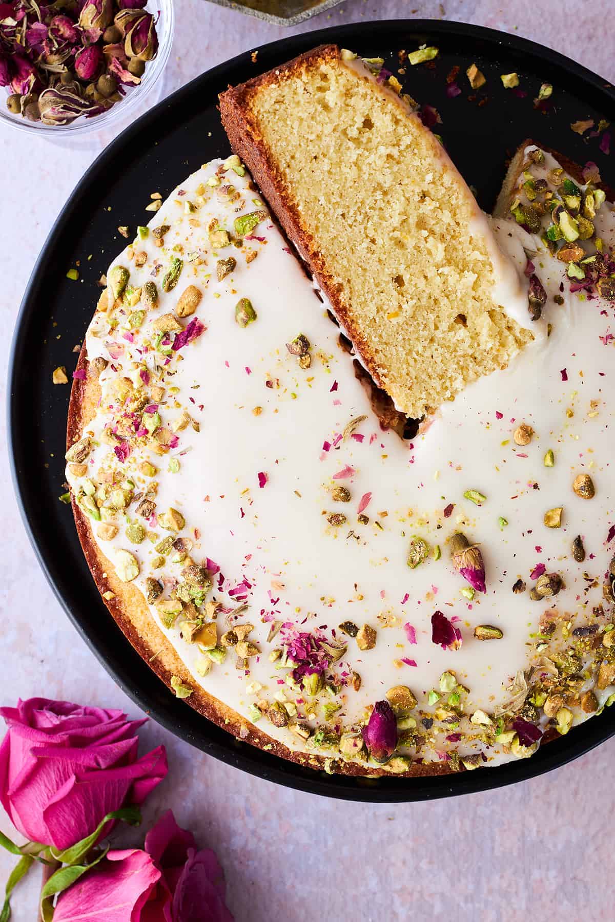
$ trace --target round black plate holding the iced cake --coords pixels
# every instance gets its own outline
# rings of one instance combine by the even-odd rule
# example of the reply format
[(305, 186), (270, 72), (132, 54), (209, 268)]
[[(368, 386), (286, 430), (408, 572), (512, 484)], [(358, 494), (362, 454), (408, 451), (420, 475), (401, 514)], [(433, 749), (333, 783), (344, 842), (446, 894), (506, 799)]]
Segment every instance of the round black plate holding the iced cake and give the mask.
[[(124, 246), (118, 225), (135, 228), (148, 219), (144, 207), (150, 193), (160, 191), (166, 197), (202, 162), (226, 156), (229, 147), (216, 109), (222, 89), (325, 41), (365, 56), (382, 56), (394, 73), (399, 49), (412, 50), (423, 42), (438, 46), (434, 67), (408, 66), (405, 89), (440, 112), (443, 124), (434, 130), (486, 211), (502, 183), (507, 155), (525, 137), (581, 163), (596, 160), (603, 179), (615, 185), (613, 166), (598, 152), (597, 140), (586, 141), (570, 129), (577, 119), (615, 120), (613, 89), (561, 54), (501, 32), (432, 20), (361, 23), (266, 45), (256, 66), (243, 53), (215, 67), (113, 141), (78, 184), (42, 249), (21, 306), (9, 372), (13, 476), (21, 512), (53, 591), (103, 666), (140, 708), (197, 748), (268, 781), (336, 798), (421, 800), (508, 785), (569, 762), (608, 739), (615, 732), (615, 715), (606, 711), (531, 759), (450, 778), (374, 781), (302, 769), (236, 741), (166, 689), (112, 621), (81, 553), (70, 509), (57, 501), (63, 491), (69, 389), (53, 387), (52, 371), (57, 365), (73, 367), (71, 349), (89, 324), (100, 291), (96, 281)], [(473, 61), (487, 84), (477, 99), (468, 100), (465, 71)], [(454, 65), (460, 67), (463, 95), (448, 99), (445, 77)], [(503, 89), (500, 75), (513, 71), (526, 98)], [(542, 82), (554, 88), (547, 112), (532, 104)], [(482, 98), (488, 101), (479, 106)], [(69, 281), (66, 270), (77, 260), (80, 281)]]

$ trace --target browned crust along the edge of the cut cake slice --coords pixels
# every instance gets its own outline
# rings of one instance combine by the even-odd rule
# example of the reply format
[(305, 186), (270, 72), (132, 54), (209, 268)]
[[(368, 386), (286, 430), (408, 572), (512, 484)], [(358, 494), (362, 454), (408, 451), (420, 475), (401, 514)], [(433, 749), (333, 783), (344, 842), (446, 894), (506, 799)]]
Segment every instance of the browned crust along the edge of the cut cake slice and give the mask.
[(284, 65), (258, 77), (253, 77), (239, 87), (230, 87), (220, 93), (220, 115), (224, 130), (231, 142), (231, 148), (241, 157), (252, 173), (254, 181), (258, 184), (290, 241), (297, 247), (302, 259), (310, 266), (313, 276), (325, 292), (345, 332), (361, 356), (368, 360), (375, 383), (385, 390), (385, 383), (377, 371), (377, 361), (375, 358), (369, 361), (370, 344), (363, 337), (361, 329), (352, 323), (349, 313), (339, 298), (337, 283), (328, 272), (316, 241), (313, 240), (311, 234), (303, 230), (299, 212), (285, 194), (284, 183), (267, 155), (265, 142), (250, 112), (250, 99), (258, 89), (268, 84), (275, 84), (280, 78), (291, 77), (307, 65), (337, 61), (339, 58), (340, 52), (337, 45), (319, 45)]

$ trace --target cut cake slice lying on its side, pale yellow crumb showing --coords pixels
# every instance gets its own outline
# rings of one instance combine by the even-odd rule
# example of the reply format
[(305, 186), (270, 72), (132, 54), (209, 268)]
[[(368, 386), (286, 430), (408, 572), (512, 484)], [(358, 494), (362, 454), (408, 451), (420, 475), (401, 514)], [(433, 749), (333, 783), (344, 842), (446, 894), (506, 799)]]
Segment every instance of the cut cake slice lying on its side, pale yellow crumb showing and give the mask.
[(220, 112), (373, 380), (419, 419), (505, 366), (532, 318), (526, 279), (391, 85), (324, 45), (228, 89)]

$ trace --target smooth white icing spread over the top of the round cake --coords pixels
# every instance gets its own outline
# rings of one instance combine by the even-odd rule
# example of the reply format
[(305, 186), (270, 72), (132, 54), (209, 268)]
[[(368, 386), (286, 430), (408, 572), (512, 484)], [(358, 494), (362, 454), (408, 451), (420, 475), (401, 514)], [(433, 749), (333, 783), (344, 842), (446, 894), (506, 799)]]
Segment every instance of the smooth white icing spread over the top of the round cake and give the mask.
[[(565, 588), (554, 602), (557, 609), (569, 613), (571, 621), (583, 617), (586, 605), (591, 608), (601, 600), (601, 577), (612, 552), (606, 544), (607, 532), (615, 521), (609, 429), (612, 343), (607, 339), (605, 345), (599, 338), (609, 332), (611, 308), (604, 302), (570, 295), (567, 285), (564, 304), (554, 304), (552, 295), (559, 290), (562, 264), (544, 252), (538, 238), (530, 238), (514, 222), (494, 221), (499, 246), (516, 259), (520, 270), (525, 264), (523, 247), (538, 251), (536, 272), (550, 294), (544, 309), (545, 323), (552, 325), (550, 337), (538, 337), (508, 368), (468, 386), (441, 408), (427, 431), (412, 443), (403, 443), (395, 433), (380, 430), (352, 360), (338, 346), (336, 326), (269, 220), (254, 231), (266, 242), (246, 242), (258, 253), (249, 266), (244, 255), (232, 247), (219, 251), (220, 257), (235, 255), (237, 268), (223, 281), (217, 280), (218, 256), (211, 254), (208, 222), (219, 218), (220, 225), (230, 229), (231, 219), (253, 211), (258, 198), (246, 188), (247, 175), (241, 179), (230, 173), (226, 182), (231, 177), (242, 191), (242, 202), (237, 203), (241, 210), (230, 212), (220, 206), (215, 190), (207, 187), (204, 204), (195, 215), (186, 215), (185, 201), (195, 201), (195, 190), (217, 166), (214, 162), (195, 172), (150, 221), (151, 227), (169, 224), (171, 231), (165, 235), (163, 250), (155, 248), (151, 234), (136, 244), (136, 250), (148, 252), (147, 266), (135, 268), (127, 262), (125, 252), (112, 265), (130, 266), (131, 284), (142, 285), (151, 278), (151, 261), (159, 259), (163, 264), (156, 278), (160, 290), (173, 246), (183, 247), (184, 260), (190, 253), (205, 260), (202, 265), (184, 263), (180, 282), (168, 294), (160, 291), (160, 305), (146, 320), (147, 325), (151, 318), (172, 311), (191, 282), (205, 292), (196, 316), (207, 331), (181, 350), (182, 361), (174, 360), (177, 371), (165, 382), (167, 393), (160, 405), (163, 422), (187, 408), (200, 423), (200, 432), (188, 427), (179, 433), (179, 443), (170, 455), (148, 456), (160, 468), (158, 513), (170, 506), (180, 510), (187, 523), (183, 534), (196, 528), (200, 535), (193, 558), (200, 562), (209, 557), (224, 573), (223, 589), (215, 596), (231, 607), (228, 590), (243, 578), (249, 583), (246, 601), (250, 609), (245, 619), (254, 623), (250, 640), (263, 653), (258, 660), (250, 660), (247, 678), (234, 668), (233, 656), (222, 665), (214, 664), (202, 677), (197, 672), (202, 654), (195, 644), (185, 643), (177, 630), (162, 630), (195, 683), (244, 715), (246, 721), (250, 704), (284, 691), (278, 680), (285, 670), (277, 670), (268, 660), (278, 639), (266, 644), (269, 624), (261, 622), (263, 612), (277, 620), (305, 621), (305, 631), (325, 626), (329, 635), (332, 628), (348, 620), (358, 625), (367, 622), (377, 629), (375, 647), (363, 653), (354, 640), (345, 638), (349, 651), (341, 662), (349, 664), (347, 671), (356, 669), (362, 680), (361, 691), (345, 689), (338, 699), (343, 702), (339, 716), (345, 725), (360, 719), (368, 704), (382, 699), (397, 684), (414, 691), (421, 710), (432, 710), (426, 692), (438, 688), (444, 669), (454, 670), (469, 688), (469, 713), (475, 707), (491, 713), (509, 697), (506, 687), (517, 670), (535, 661), (532, 638), (538, 632), (539, 616), (549, 608), (547, 602), (531, 601), (527, 592), (514, 595), (515, 580), (522, 578), (528, 588), (533, 585), (529, 574), (538, 562), (548, 571), (562, 573)], [(191, 226), (190, 219), (197, 219), (199, 227)], [(610, 213), (601, 220), (601, 235), (610, 243), (614, 227)], [(257, 312), (256, 321), (245, 329), (234, 320), (240, 297), (249, 298)], [(124, 357), (114, 365), (122, 366), (125, 374), (132, 347), (117, 332), (108, 336), (105, 327), (105, 316), (97, 314), (88, 331), (89, 358), (109, 358), (107, 341), (119, 342)], [(301, 369), (285, 348), (300, 332), (312, 343), (309, 370)], [(562, 369), (566, 369), (567, 381), (562, 380)], [(114, 376), (110, 365), (101, 383)], [(278, 379), (279, 386), (267, 387), (271, 379)], [(170, 384), (179, 387), (177, 399), (182, 408), (173, 407)], [(255, 407), (262, 408), (258, 416)], [(567, 409), (574, 415), (567, 416)], [(367, 419), (355, 431), (362, 441), (352, 437), (341, 441), (340, 433), (349, 420), (363, 415)], [(100, 414), (88, 427), (95, 437), (100, 435), (103, 420)], [(513, 431), (521, 422), (536, 431), (526, 447), (513, 441)], [(328, 451), (323, 449), (325, 442), (331, 444)], [(548, 449), (555, 453), (551, 468), (543, 465)], [(105, 444), (95, 449), (89, 459), (93, 472), (110, 451)], [(139, 457), (134, 455), (134, 460)], [(179, 473), (166, 473), (170, 457), (180, 461)], [(347, 466), (354, 472), (335, 479)], [(263, 488), (259, 487), (259, 472), (267, 476)], [(596, 497), (590, 502), (579, 499), (572, 490), (574, 476), (580, 472), (589, 472), (596, 484)], [(67, 476), (78, 489), (79, 480), (70, 472)], [(534, 488), (535, 483), (539, 489)], [(143, 478), (139, 489), (142, 485)], [(330, 490), (335, 485), (349, 489), (351, 502), (332, 501)], [(464, 499), (467, 490), (484, 493), (487, 501), (474, 505)], [(361, 525), (357, 509), (361, 496), (368, 492), (372, 499), (365, 514), (370, 521)], [(453, 513), (444, 517), (449, 503), (455, 503)], [(544, 512), (560, 505), (564, 507), (562, 528), (543, 526)], [(328, 525), (327, 514), (334, 512), (346, 514), (348, 523)], [(132, 509), (130, 514), (134, 520)], [(501, 516), (506, 526), (499, 524)], [(151, 574), (148, 561), (157, 556), (156, 551), (148, 541), (130, 545), (123, 534), (123, 518), (117, 522), (118, 537), (101, 541), (101, 549), (111, 558), (118, 549), (131, 550), (141, 567), (136, 585), (143, 586)], [(160, 527), (154, 530), (160, 538), (167, 534)], [(466, 584), (454, 572), (446, 547), (447, 539), (458, 530), (480, 542), (486, 566), (487, 593), (477, 594), (471, 602), (460, 593)], [(577, 534), (584, 537), (588, 555), (583, 565), (575, 564), (570, 553)], [(408, 569), (408, 544), (414, 535), (439, 545), (442, 558)], [(179, 577), (181, 570), (181, 565), (169, 563), (155, 575)], [(589, 591), (584, 571), (596, 577)], [(435, 609), (461, 619), (457, 622), (464, 641), (460, 650), (432, 644)], [(158, 621), (155, 609), (151, 611)], [(219, 619), (223, 621), (222, 616)], [(385, 627), (386, 621), (396, 626)], [(408, 643), (403, 629), (407, 622), (416, 629), (417, 644)], [(479, 624), (501, 628), (503, 640), (475, 640), (472, 632)], [(219, 631), (223, 629), (220, 623)], [(337, 632), (338, 639), (342, 636)], [(415, 660), (416, 667), (396, 666), (395, 661), (403, 658)], [(336, 668), (340, 669), (339, 664)], [(246, 691), (253, 682), (262, 686), (255, 694)], [(287, 698), (292, 698), (290, 692)], [(575, 719), (580, 716), (575, 714)], [(266, 718), (258, 726), (290, 748), (302, 748), (302, 740), (287, 728), (273, 727)], [(508, 757), (496, 748), (489, 758)]]

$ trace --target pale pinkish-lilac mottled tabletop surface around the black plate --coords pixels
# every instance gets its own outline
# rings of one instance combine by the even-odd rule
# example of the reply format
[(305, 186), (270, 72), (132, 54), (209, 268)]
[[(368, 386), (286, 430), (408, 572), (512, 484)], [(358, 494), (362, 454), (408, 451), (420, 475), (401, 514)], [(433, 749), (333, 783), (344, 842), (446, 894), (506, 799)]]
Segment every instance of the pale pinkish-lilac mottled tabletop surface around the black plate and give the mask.
[[(203, 0), (176, 0), (177, 34), (164, 92), (259, 43), (289, 35)], [(615, 78), (615, 3), (586, 0), (353, 0), (298, 30), (369, 18), (450, 18), (516, 32)], [(3, 103), (4, 104), (4, 103)], [(0, 127), (0, 365), (18, 304), (53, 219), (109, 137), (68, 150)], [(5, 375), (0, 383), (6, 391)], [(135, 706), (77, 637), (46, 584), (7, 476), (6, 395), (0, 396), (0, 699), (45, 694)], [(32, 476), (36, 476), (33, 472)], [(431, 804), (369, 806), (314, 798), (241, 774), (150, 724), (171, 773), (147, 821), (173, 807), (219, 853), (238, 922), (339, 919), (516, 922), (612, 920), (615, 739), (589, 756), (506, 790)], [(11, 833), (4, 813), (0, 828)], [(0, 882), (13, 865), (0, 852)], [(34, 878), (36, 872), (32, 872)], [(16, 891), (14, 922), (33, 922), (36, 883)]]

